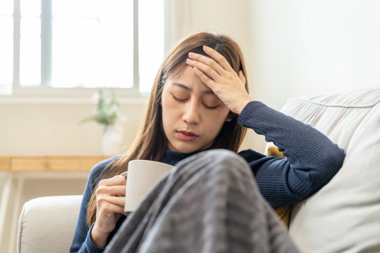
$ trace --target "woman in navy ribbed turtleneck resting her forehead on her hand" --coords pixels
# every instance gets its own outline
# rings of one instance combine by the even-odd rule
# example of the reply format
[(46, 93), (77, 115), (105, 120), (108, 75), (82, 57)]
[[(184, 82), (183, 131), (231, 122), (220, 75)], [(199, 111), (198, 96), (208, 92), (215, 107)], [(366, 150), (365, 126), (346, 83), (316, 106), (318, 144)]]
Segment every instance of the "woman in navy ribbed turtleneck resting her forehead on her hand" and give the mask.
[(236, 153), (245, 127), (264, 134), (287, 156), (238, 153), (273, 208), (304, 200), (331, 180), (344, 151), (313, 127), (253, 101), (245, 76), (238, 44), (227, 36), (197, 33), (174, 46), (154, 80), (128, 154), (107, 159), (91, 171), (70, 252), (102, 252), (120, 228), (126, 218), (124, 197), (115, 196), (124, 196), (126, 179), (120, 174), (129, 161), (176, 165), (200, 151)]

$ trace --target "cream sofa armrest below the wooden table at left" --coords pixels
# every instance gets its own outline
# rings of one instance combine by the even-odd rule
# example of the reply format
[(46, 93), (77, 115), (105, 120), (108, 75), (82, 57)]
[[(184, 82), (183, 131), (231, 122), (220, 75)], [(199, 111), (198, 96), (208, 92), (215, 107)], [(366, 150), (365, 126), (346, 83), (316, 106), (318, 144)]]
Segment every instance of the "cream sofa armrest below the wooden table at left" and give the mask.
[(82, 195), (32, 199), (22, 208), (17, 253), (67, 253), (72, 244)]

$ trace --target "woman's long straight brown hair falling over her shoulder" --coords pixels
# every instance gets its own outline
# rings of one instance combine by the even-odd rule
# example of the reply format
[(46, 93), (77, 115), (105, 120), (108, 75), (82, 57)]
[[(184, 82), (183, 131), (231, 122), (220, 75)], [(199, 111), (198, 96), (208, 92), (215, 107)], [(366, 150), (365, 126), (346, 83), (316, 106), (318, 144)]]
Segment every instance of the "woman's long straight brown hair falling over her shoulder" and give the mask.
[[(230, 37), (200, 32), (178, 42), (166, 55), (154, 79), (142, 123), (132, 146), (126, 155), (113, 160), (103, 169), (97, 180), (95, 180), (95, 184), (102, 179), (111, 178), (128, 170), (128, 162), (131, 160), (158, 161), (161, 159), (167, 147), (167, 138), (163, 130), (161, 117), (162, 88), (168, 78), (179, 73), (187, 66), (186, 59), (189, 52), (210, 57), (203, 51), (203, 45), (207, 45), (222, 54), (236, 73), (241, 70), (244, 77), (246, 77), (243, 55), (238, 44)], [(248, 92), (247, 81), (245, 81), (245, 89)], [(238, 152), (245, 133), (246, 128), (238, 124), (238, 117), (235, 115), (232, 121), (224, 123), (210, 149), (224, 148)], [(87, 211), (87, 225), (89, 227), (95, 221), (95, 218), (96, 198), (94, 190)]]

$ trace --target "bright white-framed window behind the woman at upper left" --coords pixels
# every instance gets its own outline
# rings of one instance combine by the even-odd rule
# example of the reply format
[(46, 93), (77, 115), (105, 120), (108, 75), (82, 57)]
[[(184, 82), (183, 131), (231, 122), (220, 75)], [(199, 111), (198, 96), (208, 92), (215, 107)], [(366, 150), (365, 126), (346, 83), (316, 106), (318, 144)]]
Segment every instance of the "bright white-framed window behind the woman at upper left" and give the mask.
[(149, 92), (164, 57), (163, 9), (163, 0), (1, 0), (0, 95)]

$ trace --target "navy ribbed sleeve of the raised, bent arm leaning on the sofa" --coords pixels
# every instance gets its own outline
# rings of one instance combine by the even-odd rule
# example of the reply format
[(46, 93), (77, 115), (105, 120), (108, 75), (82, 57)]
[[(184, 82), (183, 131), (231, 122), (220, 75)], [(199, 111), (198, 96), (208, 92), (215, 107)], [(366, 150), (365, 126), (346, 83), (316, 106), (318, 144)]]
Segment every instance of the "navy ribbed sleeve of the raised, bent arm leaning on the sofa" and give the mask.
[(326, 185), (343, 164), (344, 150), (326, 135), (262, 102), (249, 102), (238, 122), (263, 134), (286, 156), (267, 157), (253, 150), (240, 152), (273, 208), (306, 199)]

